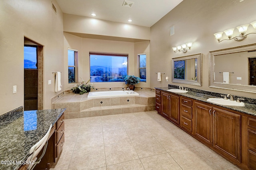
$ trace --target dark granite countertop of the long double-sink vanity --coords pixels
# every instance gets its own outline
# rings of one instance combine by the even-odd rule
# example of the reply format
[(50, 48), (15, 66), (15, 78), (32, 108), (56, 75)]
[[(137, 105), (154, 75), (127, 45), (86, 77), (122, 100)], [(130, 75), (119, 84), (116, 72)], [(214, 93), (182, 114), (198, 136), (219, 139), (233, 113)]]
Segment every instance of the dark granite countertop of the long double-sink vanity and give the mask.
[[(164, 90), (166, 92), (172, 93), (170, 91), (167, 91), (169, 89), (174, 89), (172, 87), (156, 87), (156, 89), (158, 90)], [(250, 104), (250, 103), (246, 103), (244, 102), (244, 106), (226, 106), (226, 105), (220, 105), (220, 104), (214, 104), (212, 102), (208, 102), (206, 101), (208, 98), (219, 98), (216, 95), (215, 96), (211, 96), (208, 94), (202, 94), (202, 93), (198, 93), (198, 92), (192, 92), (190, 90), (188, 90), (187, 93), (176, 93), (180, 96), (185, 96), (188, 98), (192, 98), (192, 99), (196, 99), (202, 102), (206, 102), (208, 104), (212, 104), (212, 105), (216, 105), (216, 106), (222, 106), (224, 108), (228, 108), (231, 110), (235, 110), (235, 111), (239, 111), (241, 113), (246, 113), (248, 115), (252, 115), (252, 116), (256, 116), (256, 105), (255, 104)]]

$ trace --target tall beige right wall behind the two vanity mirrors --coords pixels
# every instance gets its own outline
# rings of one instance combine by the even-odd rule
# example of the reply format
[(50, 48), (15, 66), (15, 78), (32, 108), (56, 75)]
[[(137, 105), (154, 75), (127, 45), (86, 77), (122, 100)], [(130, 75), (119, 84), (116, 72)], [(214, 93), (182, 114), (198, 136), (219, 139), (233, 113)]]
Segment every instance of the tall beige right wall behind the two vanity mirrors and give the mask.
[[(244, 41), (218, 41), (214, 33), (237, 27), (256, 20), (255, 0), (183, 0), (176, 8), (154, 24), (150, 30), (150, 87), (163, 87), (168, 84), (183, 85), (255, 98), (255, 94), (209, 88), (208, 83), (208, 52), (217, 49), (236, 47), (255, 43), (255, 34), (249, 35)], [(170, 27), (174, 25), (175, 34), (170, 36)], [(254, 31), (252, 26), (248, 31)], [(238, 31), (234, 31), (238, 34)], [(172, 47), (187, 42), (194, 42), (187, 53), (174, 53)], [(202, 87), (171, 81), (156, 81), (154, 72), (166, 72), (171, 77), (171, 59), (186, 55), (202, 53)], [(239, 62), (239, 61), (234, 61)]]

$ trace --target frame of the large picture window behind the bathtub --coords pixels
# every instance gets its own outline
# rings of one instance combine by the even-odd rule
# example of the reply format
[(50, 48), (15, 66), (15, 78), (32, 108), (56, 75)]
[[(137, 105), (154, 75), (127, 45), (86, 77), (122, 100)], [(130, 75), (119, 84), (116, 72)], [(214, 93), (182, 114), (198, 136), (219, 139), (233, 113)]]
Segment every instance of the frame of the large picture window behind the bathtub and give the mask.
[[(113, 56), (113, 57), (127, 57), (127, 75), (129, 73), (129, 54), (128, 53), (107, 53), (107, 52), (96, 52), (89, 51), (89, 69), (91, 69), (91, 55), (102, 55), (102, 56)], [(91, 71), (89, 71), (89, 76), (91, 77)], [(91, 82), (91, 81), (90, 81)], [(121, 81), (113, 81), (113, 82), (92, 82), (92, 83), (120, 83)], [(124, 82), (124, 81), (122, 81)]]

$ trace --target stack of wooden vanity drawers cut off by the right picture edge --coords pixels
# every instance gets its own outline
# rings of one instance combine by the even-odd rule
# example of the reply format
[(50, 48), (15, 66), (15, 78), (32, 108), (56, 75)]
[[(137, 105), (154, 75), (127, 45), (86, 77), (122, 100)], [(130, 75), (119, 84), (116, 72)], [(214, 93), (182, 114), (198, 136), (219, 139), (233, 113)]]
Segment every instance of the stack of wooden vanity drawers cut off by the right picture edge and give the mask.
[(248, 167), (256, 170), (256, 119), (248, 117)]

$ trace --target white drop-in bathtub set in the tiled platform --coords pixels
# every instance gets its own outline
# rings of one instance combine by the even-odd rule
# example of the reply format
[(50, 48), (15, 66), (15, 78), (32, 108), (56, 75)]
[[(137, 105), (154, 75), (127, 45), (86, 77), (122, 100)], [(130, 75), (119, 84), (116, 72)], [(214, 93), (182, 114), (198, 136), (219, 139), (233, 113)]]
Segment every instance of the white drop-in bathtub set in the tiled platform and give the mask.
[(139, 96), (133, 90), (120, 91), (104, 91), (104, 92), (89, 92), (88, 98), (105, 98), (105, 97), (125, 97), (125, 96)]

